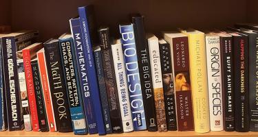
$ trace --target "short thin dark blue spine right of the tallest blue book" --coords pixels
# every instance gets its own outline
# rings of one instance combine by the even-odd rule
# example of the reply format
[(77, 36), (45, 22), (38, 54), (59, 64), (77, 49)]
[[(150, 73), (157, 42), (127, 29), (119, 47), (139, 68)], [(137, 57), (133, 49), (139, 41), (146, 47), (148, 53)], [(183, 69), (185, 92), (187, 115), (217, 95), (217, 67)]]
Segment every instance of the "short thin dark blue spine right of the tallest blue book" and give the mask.
[(98, 74), (98, 87), (100, 89), (100, 99), (107, 134), (112, 134), (111, 120), (109, 113), (109, 103), (107, 101), (107, 89), (105, 84), (105, 75), (103, 69), (103, 61), (101, 51), (94, 51), (96, 69)]

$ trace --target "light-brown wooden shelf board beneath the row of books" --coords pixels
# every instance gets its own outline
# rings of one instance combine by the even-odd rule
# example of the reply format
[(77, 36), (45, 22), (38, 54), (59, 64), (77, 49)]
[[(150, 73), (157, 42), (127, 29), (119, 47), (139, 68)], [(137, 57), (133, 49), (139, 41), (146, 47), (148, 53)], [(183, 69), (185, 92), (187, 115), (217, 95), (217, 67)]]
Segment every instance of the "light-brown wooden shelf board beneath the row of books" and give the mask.
[[(78, 136), (74, 135), (74, 133), (69, 132), (69, 133), (60, 133), (60, 132), (25, 132), (25, 131), (17, 131), (17, 132), (0, 132), (0, 136), (63, 136), (63, 137), (69, 137), (69, 136)], [(85, 135), (89, 136), (89, 135)], [(98, 136), (98, 134), (93, 134), (90, 136)], [(106, 136), (114, 136), (114, 137), (151, 137), (151, 136), (202, 136), (202, 137), (236, 137), (236, 136), (241, 136), (241, 137), (257, 137), (258, 132), (208, 132), (205, 134), (199, 134), (196, 132), (147, 132), (147, 131), (141, 131), (141, 132), (130, 132), (130, 133), (123, 133), (123, 134), (108, 134)]]

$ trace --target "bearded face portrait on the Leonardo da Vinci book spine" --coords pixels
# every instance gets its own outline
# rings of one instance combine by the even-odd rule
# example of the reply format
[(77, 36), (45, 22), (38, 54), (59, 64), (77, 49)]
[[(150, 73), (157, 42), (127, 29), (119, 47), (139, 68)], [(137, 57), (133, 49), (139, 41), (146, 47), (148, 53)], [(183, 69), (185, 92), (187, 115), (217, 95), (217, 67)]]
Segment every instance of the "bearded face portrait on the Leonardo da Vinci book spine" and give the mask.
[(175, 92), (191, 90), (189, 72), (175, 73)]

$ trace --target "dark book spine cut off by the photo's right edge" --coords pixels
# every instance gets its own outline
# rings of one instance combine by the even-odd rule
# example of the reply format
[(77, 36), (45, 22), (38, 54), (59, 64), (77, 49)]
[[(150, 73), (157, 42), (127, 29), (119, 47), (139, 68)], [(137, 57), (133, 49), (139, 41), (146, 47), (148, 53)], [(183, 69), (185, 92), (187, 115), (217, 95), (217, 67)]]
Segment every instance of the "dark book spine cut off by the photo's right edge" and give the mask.
[[(258, 62), (257, 35), (249, 35), (249, 62)], [(249, 63), (249, 91), (250, 131), (258, 131), (258, 64)]]

